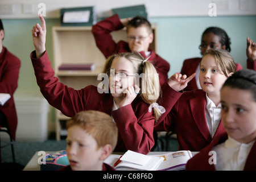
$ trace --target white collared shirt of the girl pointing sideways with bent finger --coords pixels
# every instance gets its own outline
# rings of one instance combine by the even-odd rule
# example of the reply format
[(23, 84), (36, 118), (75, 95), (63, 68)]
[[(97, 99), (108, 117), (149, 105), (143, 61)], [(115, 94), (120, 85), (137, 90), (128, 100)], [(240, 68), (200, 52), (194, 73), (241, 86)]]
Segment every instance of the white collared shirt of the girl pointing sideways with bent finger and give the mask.
[(221, 104), (216, 105), (206, 94), (205, 117), (210, 136), (213, 138), (221, 119)]

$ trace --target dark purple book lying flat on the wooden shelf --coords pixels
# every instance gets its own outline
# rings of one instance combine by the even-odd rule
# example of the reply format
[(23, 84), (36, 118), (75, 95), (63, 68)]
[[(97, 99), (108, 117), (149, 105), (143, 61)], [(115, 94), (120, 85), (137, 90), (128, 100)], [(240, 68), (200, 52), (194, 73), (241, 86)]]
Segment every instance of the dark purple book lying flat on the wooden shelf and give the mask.
[(89, 64), (61, 64), (59, 66), (59, 71), (68, 71), (68, 70), (89, 70), (93, 71), (96, 68), (96, 65), (94, 63)]

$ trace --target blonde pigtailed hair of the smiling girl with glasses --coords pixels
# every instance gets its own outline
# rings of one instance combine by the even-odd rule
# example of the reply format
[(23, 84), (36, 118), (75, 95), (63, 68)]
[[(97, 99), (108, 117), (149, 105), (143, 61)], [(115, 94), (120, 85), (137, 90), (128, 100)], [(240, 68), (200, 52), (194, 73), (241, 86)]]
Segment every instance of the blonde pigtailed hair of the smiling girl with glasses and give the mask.
[[(139, 75), (140, 96), (147, 104), (152, 104), (158, 100), (161, 94), (158, 72), (150, 61), (146, 61), (138, 52), (123, 52), (112, 55), (106, 60), (104, 73), (110, 72), (113, 60), (116, 58), (125, 58), (133, 64), (135, 73)], [(160, 112), (153, 108), (155, 121), (160, 117)]]

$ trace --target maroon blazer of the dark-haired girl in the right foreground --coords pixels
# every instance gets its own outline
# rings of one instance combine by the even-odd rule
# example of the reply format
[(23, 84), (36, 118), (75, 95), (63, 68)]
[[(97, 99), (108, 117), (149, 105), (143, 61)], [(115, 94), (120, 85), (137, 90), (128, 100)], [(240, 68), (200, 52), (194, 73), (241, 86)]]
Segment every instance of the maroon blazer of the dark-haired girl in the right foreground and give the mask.
[[(214, 164), (209, 164), (208, 160), (210, 158), (209, 152), (212, 151), (212, 148), (217, 144), (225, 142), (228, 139), (228, 135), (225, 134), (225, 137), (217, 138), (213, 140), (207, 147), (203, 148), (198, 154), (193, 156), (192, 159), (188, 160), (186, 165), (186, 170), (190, 171), (214, 171), (216, 170)], [(254, 142), (251, 151), (247, 156), (244, 171), (255, 171), (256, 170), (256, 142)]]

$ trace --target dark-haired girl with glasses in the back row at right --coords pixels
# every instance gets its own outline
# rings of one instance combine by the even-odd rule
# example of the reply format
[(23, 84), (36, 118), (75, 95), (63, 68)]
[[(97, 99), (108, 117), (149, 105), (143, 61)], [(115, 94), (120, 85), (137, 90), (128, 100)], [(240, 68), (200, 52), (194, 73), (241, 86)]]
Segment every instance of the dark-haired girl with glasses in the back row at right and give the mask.
[[(201, 50), (202, 56), (208, 49), (224, 49), (230, 52), (230, 38), (228, 34), (226, 34), (226, 32), (221, 28), (209, 27), (203, 32), (199, 49)], [(184, 91), (201, 89), (199, 84), (199, 65), (201, 59), (201, 57), (196, 57), (187, 59), (183, 62), (183, 67), (181, 68), (180, 72), (181, 75), (192, 75), (195, 72), (197, 73), (195, 78), (188, 83), (188, 86), (184, 89)], [(242, 66), (236, 63), (236, 71), (241, 69)]]

